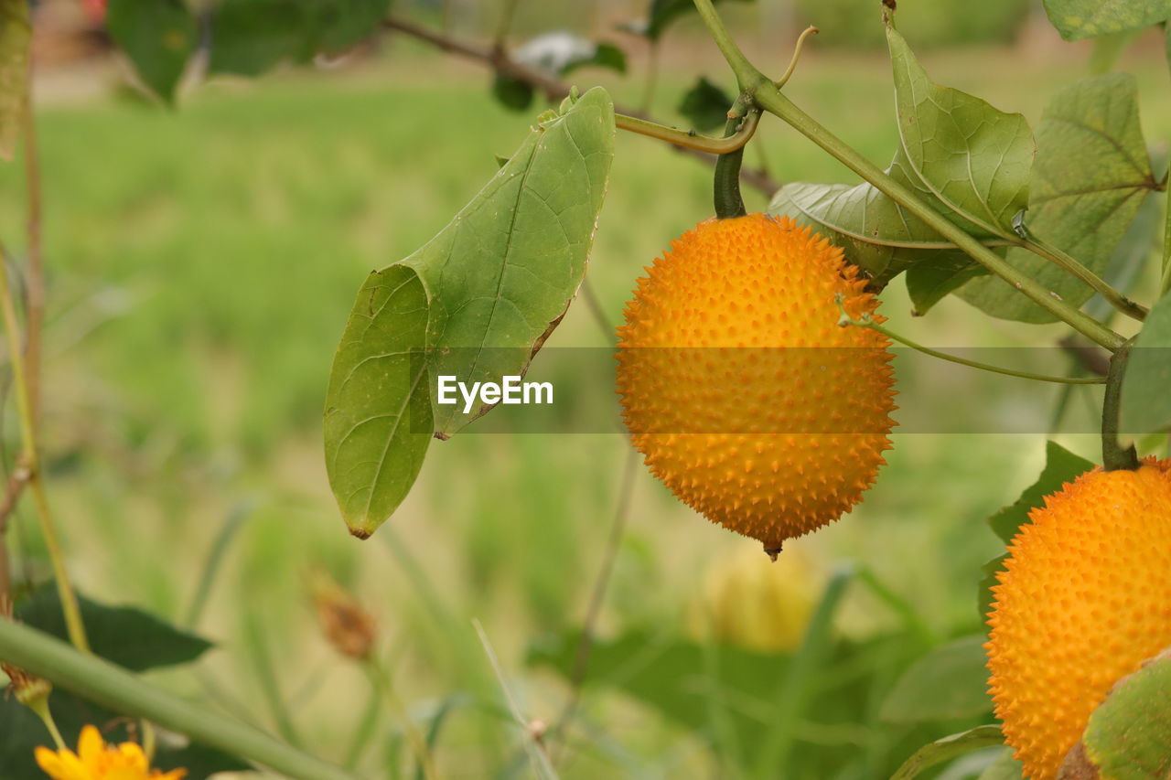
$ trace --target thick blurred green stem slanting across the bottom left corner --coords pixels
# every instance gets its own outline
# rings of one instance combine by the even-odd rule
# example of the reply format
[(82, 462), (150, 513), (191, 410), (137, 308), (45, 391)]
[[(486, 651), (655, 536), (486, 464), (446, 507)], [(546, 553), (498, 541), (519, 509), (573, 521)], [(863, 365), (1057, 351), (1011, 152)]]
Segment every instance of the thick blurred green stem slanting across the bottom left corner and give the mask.
[(27, 625), (0, 620), (0, 658), (84, 699), (131, 718), (145, 718), (294, 780), (358, 780), (254, 726), (215, 714)]

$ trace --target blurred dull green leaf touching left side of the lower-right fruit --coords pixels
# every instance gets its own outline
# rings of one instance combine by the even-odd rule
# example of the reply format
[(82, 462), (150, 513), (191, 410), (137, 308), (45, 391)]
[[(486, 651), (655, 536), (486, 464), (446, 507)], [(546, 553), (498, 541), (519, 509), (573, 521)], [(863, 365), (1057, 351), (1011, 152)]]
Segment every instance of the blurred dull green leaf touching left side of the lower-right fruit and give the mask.
[(895, 683), (882, 705), (882, 719), (908, 724), (991, 712), (984, 643), (982, 634), (966, 636), (919, 658)]

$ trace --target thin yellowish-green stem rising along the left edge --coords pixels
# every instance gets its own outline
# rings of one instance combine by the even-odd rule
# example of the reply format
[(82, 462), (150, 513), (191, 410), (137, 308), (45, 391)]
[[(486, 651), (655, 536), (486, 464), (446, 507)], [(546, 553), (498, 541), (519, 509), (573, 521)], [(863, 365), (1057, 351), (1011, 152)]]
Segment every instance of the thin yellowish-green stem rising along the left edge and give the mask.
[(8, 264), (6, 253), (0, 251), (0, 308), (4, 309), (5, 331), (8, 337), (8, 362), (12, 365), (12, 378), (16, 390), (16, 412), (20, 417), (21, 466), (28, 470), (28, 487), (36, 506), (36, 518), (41, 525), (41, 535), (53, 565), (53, 576), (57, 582), (57, 595), (61, 598), (61, 611), (64, 613), (66, 629), (69, 641), (78, 650), (89, 652), (89, 639), (85, 637), (85, 624), (81, 618), (77, 595), (69, 582), (66, 570), (64, 554), (57, 540), (56, 525), (49, 512), (49, 499), (44, 493), (44, 481), (41, 479), (41, 466), (36, 452), (36, 424), (33, 402), (28, 392), (28, 377), (25, 372), (25, 355), (20, 345), (20, 326), (16, 322), (16, 309), (12, 300), (12, 287), (8, 283)]

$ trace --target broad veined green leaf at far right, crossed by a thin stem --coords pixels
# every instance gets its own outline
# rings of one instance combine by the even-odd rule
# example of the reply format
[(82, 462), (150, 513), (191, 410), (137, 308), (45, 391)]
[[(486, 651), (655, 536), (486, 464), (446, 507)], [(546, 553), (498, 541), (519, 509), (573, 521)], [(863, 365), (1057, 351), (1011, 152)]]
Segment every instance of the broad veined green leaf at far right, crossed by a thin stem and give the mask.
[[(1138, 122), (1134, 76), (1094, 76), (1054, 96), (1038, 129), (1033, 166), (1027, 224), (1036, 237), (1101, 276), (1143, 199), (1157, 186)], [(1009, 249), (1008, 261), (1073, 306), (1094, 295), (1026, 249)], [(978, 279), (959, 295), (1005, 320), (1055, 320), (1000, 279)]]

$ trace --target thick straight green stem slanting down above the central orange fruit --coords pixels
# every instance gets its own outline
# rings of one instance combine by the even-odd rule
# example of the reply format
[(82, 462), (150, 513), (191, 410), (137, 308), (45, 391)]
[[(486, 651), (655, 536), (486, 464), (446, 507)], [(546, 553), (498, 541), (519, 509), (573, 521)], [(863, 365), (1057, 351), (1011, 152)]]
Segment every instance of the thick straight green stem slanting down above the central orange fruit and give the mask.
[[(697, 0), (703, 2), (704, 0)], [(977, 262), (1000, 276), (1007, 283), (1020, 290), (1034, 303), (1059, 320), (1084, 335), (1090, 341), (1114, 351), (1123, 341), (1122, 336), (1110, 330), (1084, 312), (1066, 303), (1053, 293), (1041, 287), (1036, 281), (1025, 275), (995, 252), (988, 249), (979, 240), (968, 235), (963, 228), (951, 223), (924, 203), (909, 187), (896, 182), (882, 169), (855, 151), (841, 138), (817, 123), (816, 119), (799, 109), (793, 101), (782, 95), (769, 81), (756, 84), (753, 97), (758, 105), (788, 122), (794, 129), (833, 155), (838, 162), (869, 182), (879, 192), (900, 204), (918, 217), (929, 227), (950, 240), (958, 248), (971, 255)]]

